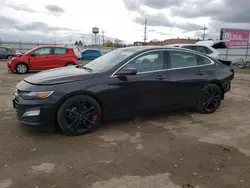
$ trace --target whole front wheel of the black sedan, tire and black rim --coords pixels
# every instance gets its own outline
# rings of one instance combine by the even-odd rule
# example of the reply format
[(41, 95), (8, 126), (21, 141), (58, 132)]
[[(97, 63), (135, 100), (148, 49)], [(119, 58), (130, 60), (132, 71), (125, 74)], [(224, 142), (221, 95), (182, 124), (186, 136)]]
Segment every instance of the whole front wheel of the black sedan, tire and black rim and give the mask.
[(75, 95), (64, 101), (57, 113), (62, 131), (69, 136), (92, 132), (100, 124), (101, 107), (87, 95)]

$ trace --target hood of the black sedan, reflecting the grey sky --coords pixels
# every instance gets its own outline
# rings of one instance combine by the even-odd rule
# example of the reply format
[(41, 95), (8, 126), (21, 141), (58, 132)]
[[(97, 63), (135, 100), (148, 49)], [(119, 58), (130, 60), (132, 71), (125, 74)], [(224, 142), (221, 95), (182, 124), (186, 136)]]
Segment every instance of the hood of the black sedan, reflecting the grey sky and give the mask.
[(85, 69), (69, 66), (42, 71), (25, 78), (24, 81), (35, 85), (55, 85), (90, 79), (94, 75)]

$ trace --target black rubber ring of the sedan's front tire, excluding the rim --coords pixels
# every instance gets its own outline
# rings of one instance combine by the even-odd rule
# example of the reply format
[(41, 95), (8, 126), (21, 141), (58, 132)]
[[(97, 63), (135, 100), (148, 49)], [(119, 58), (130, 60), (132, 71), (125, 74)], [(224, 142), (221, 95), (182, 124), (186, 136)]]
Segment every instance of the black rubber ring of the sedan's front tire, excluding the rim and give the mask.
[[(84, 132), (81, 132), (81, 133), (77, 133), (77, 132), (72, 132), (71, 130), (69, 130), (67, 128), (68, 123), (67, 123), (66, 119), (64, 118), (64, 115), (65, 115), (65, 110), (72, 103), (78, 102), (80, 100), (88, 101), (88, 102), (90, 102), (92, 105), (94, 105), (96, 107), (97, 113), (98, 113), (98, 119), (96, 120), (96, 123), (90, 129), (88, 129), (88, 130), (86, 130)], [(64, 131), (64, 133), (66, 133), (69, 136), (78, 136), (78, 135), (84, 135), (84, 134), (90, 133), (99, 126), (100, 121), (101, 121), (101, 107), (94, 98), (92, 98), (92, 97), (90, 97), (88, 95), (75, 95), (75, 96), (72, 96), (72, 97), (66, 99), (61, 104), (61, 106), (59, 107), (59, 110), (57, 112), (57, 122), (58, 122), (60, 128)]]

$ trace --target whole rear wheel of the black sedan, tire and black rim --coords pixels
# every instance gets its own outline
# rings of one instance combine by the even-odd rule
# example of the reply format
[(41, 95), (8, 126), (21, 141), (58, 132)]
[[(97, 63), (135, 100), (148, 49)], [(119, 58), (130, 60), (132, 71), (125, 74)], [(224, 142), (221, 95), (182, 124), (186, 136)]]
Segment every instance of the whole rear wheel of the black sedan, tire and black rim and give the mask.
[(220, 106), (222, 91), (216, 84), (207, 85), (201, 93), (198, 101), (197, 110), (202, 114), (214, 113)]

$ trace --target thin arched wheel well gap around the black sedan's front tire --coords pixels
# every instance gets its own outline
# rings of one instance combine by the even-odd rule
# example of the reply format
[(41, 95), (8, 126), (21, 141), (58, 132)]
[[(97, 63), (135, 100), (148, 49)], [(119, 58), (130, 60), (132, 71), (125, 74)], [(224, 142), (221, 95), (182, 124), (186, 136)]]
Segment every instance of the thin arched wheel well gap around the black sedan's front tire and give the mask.
[(58, 121), (57, 121), (57, 112), (60, 108), (60, 106), (70, 97), (73, 97), (73, 96), (76, 96), (76, 95), (87, 95), (89, 97), (92, 97), (93, 99), (95, 99), (97, 101), (97, 103), (100, 105), (101, 107), (101, 116), (103, 117), (103, 103), (101, 102), (101, 100), (95, 96), (94, 94), (90, 93), (90, 92), (86, 92), (86, 91), (77, 91), (77, 92), (73, 92), (73, 93), (70, 93), (66, 96), (64, 96), (62, 99), (60, 99), (60, 101), (56, 104), (55, 106), (55, 127), (56, 128), (59, 128), (59, 125), (58, 125)]

